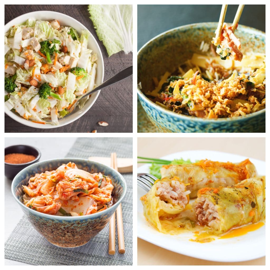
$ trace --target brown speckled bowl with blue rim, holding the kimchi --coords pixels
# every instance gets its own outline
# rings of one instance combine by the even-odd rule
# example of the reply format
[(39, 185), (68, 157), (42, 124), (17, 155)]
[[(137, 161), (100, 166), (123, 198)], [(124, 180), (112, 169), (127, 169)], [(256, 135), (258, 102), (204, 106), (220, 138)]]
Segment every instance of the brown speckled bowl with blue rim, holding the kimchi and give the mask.
[[(36, 173), (55, 170), (69, 161), (74, 162), (79, 169), (89, 171), (90, 173), (102, 172), (102, 174), (112, 178), (114, 186), (112, 207), (91, 215), (61, 217), (37, 212), (23, 204), (22, 196), (24, 193), (22, 185), (27, 185), (30, 177)], [(32, 164), (20, 171), (12, 182), (11, 190), (15, 200), (40, 234), (53, 245), (72, 248), (86, 244), (105, 227), (126, 194), (126, 182), (120, 173), (103, 164), (81, 158), (57, 158)]]

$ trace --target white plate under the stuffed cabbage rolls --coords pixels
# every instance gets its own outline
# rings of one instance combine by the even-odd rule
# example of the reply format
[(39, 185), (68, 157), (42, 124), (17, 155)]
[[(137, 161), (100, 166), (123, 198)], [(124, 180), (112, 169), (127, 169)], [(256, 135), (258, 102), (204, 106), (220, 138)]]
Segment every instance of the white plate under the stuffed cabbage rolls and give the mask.
[[(217, 151), (183, 151), (168, 156), (160, 157), (161, 159), (190, 159), (195, 160), (210, 159), (221, 162), (240, 162), (249, 157), (238, 156), (234, 154), (222, 153)], [(259, 175), (265, 175), (265, 162), (249, 158), (254, 163)], [(138, 173), (149, 173), (149, 164), (138, 168)], [(215, 239), (209, 243), (198, 243), (189, 241), (194, 238), (194, 234), (181, 233), (179, 235), (167, 235), (158, 232), (146, 221), (143, 215), (143, 206), (140, 197), (146, 191), (139, 187), (138, 190), (138, 237), (159, 247), (184, 254), (199, 259), (217, 261), (217, 262), (240, 262), (257, 259), (265, 256), (265, 225), (256, 231), (248, 232), (239, 237), (228, 239)]]

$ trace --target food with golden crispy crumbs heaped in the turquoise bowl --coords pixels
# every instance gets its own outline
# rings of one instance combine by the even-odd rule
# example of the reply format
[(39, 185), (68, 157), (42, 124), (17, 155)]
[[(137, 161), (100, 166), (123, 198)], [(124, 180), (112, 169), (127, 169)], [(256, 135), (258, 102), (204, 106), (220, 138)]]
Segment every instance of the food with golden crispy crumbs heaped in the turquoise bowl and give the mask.
[[(209, 63), (208, 67), (208, 77), (230, 74), (215, 62)], [(172, 80), (157, 100), (174, 112), (203, 118), (243, 116), (265, 108), (264, 68), (250, 76), (234, 70), (227, 79), (210, 82), (198, 73), (195, 72), (192, 78)], [(261, 73), (264, 73), (263, 81), (257, 80)]]

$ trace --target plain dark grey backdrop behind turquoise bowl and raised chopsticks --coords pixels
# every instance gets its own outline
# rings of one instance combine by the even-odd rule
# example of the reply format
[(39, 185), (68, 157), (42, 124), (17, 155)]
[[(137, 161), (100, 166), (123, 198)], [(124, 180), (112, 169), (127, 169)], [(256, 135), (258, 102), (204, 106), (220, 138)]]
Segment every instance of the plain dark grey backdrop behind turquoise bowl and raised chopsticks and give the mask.
[[(169, 29), (197, 22), (218, 22), (222, 5), (138, 5), (138, 50)], [(232, 23), (238, 5), (228, 5), (225, 22)], [(245, 5), (239, 24), (265, 32), (265, 5)]]

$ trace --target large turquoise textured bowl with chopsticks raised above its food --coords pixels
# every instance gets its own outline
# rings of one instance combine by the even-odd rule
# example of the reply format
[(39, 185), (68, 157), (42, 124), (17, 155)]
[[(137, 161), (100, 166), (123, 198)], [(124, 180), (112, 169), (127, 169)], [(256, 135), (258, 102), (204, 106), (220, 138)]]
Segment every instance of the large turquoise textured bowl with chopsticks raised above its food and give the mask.
[[(164, 32), (147, 42), (138, 52), (138, 83), (144, 91), (153, 90), (152, 78), (176, 68), (200, 51), (201, 42), (210, 43), (216, 22), (195, 23)], [(265, 33), (238, 26), (241, 51), (265, 53)], [(202, 119), (174, 113), (158, 106), (138, 88), (138, 96), (151, 122), (163, 132), (265, 132), (265, 109), (245, 116)]]

